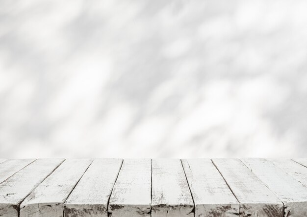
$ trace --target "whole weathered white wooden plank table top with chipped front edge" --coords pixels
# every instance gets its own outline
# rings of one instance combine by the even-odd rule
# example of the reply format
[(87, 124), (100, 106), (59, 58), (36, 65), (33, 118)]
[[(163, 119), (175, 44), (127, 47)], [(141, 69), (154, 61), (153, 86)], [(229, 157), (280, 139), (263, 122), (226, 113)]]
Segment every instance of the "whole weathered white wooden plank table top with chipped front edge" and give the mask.
[(307, 158), (0, 159), (0, 217), (307, 217)]

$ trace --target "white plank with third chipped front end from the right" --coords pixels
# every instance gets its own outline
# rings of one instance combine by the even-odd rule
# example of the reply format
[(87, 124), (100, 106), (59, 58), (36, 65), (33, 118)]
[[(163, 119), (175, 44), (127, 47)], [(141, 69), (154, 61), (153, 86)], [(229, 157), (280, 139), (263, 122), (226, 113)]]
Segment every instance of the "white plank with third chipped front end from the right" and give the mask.
[(182, 159), (195, 217), (237, 217), (239, 202), (210, 159)]

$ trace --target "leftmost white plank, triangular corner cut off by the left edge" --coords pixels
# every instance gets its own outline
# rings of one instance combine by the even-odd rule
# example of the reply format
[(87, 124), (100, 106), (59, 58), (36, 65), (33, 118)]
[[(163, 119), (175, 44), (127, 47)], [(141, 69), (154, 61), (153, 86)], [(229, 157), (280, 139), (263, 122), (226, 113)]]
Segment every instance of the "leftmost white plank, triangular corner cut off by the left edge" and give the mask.
[(17, 173), (35, 159), (9, 159), (0, 164), (0, 183)]

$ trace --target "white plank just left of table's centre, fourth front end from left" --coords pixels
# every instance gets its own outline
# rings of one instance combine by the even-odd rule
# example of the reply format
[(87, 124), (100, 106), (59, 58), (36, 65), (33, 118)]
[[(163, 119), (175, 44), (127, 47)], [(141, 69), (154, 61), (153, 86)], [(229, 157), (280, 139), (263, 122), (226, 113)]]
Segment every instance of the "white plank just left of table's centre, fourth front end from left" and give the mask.
[(111, 217), (151, 216), (151, 159), (124, 159), (108, 212)]

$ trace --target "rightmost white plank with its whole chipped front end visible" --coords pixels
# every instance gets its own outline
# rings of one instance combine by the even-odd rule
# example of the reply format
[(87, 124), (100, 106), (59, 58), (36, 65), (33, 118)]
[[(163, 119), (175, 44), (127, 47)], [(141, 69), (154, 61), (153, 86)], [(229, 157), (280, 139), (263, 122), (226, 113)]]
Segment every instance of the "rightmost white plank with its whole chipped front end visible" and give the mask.
[(283, 203), (239, 159), (212, 159), (240, 202), (240, 217), (283, 217)]

